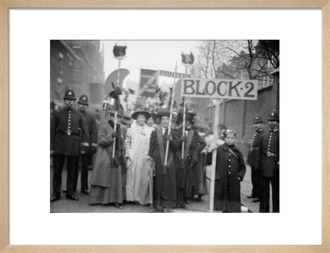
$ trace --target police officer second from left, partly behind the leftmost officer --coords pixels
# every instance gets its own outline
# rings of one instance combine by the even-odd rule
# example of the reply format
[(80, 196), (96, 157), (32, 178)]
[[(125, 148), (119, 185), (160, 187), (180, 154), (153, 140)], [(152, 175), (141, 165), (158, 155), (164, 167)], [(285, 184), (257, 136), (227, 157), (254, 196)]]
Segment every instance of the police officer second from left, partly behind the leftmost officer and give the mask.
[[(83, 114), (89, 131), (89, 152), (81, 155), (81, 192), (89, 194), (88, 189), (88, 166), (92, 163), (93, 155), (96, 153), (98, 147), (98, 128), (96, 126), (95, 118), (86, 112), (88, 106), (88, 97), (83, 94), (78, 99), (79, 112)], [(76, 174), (76, 181), (78, 180), (78, 173)]]

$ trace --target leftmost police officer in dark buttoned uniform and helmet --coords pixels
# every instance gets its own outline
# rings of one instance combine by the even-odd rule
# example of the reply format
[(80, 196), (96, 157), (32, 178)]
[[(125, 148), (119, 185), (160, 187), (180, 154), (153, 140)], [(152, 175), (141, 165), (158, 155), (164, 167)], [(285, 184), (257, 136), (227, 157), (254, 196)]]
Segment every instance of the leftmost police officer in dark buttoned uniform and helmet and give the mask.
[[(68, 89), (64, 96), (65, 108), (54, 114), (50, 129), (50, 154), (53, 157), (53, 193), (50, 201), (61, 199), (62, 170), (67, 159), (67, 192), (65, 197), (78, 201), (75, 195), (75, 175), (78, 170), (79, 151), (85, 154), (89, 148), (89, 133), (82, 114), (72, 108), (76, 97)], [(83, 131), (80, 148), (79, 128)]]

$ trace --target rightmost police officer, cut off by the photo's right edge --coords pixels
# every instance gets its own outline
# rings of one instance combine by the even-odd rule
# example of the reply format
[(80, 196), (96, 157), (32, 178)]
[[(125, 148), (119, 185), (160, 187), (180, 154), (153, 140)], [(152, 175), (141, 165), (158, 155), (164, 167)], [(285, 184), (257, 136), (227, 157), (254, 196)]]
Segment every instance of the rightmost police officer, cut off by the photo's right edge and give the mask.
[(256, 170), (261, 173), (259, 212), (270, 212), (270, 184), (272, 184), (273, 212), (280, 212), (280, 132), (278, 112), (268, 117), (270, 131), (261, 135), (256, 156)]

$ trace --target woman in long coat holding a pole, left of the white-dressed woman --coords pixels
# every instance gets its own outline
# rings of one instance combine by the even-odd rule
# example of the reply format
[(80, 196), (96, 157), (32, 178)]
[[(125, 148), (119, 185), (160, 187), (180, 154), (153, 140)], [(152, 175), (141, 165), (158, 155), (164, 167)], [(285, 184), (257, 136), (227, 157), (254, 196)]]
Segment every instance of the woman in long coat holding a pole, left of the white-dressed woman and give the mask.
[[(117, 124), (116, 132), (113, 130), (113, 115), (110, 111), (110, 120), (100, 127), (98, 132), (98, 150), (91, 176), (91, 190), (89, 204), (114, 203), (117, 208), (122, 208), (122, 174), (126, 173), (124, 161), (124, 127)], [(120, 113), (119, 113), (120, 115)], [(121, 115), (120, 115), (121, 116)], [(115, 158), (112, 158), (113, 139), (115, 141)]]

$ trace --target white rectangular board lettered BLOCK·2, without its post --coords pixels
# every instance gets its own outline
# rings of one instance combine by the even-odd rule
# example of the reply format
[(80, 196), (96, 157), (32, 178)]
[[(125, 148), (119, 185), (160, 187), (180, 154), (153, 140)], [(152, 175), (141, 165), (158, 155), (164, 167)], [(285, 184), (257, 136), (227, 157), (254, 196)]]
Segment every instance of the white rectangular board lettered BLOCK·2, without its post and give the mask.
[(256, 80), (181, 79), (182, 97), (256, 100), (257, 94), (258, 81)]

